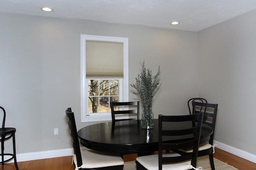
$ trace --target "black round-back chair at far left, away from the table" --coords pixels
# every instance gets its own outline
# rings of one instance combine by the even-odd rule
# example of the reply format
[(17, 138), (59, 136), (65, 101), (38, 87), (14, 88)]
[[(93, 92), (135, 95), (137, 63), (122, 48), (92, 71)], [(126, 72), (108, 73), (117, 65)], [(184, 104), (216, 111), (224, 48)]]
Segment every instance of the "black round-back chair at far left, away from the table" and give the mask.
[[(4, 165), (4, 162), (8, 162), (12, 159), (14, 159), (14, 164), (16, 170), (18, 170), (18, 164), (16, 160), (16, 147), (15, 147), (15, 132), (16, 129), (13, 127), (4, 127), (5, 125), (5, 117), (6, 117), (6, 111), (3, 107), (0, 106), (0, 108), (3, 111), (3, 122), (2, 122), (2, 128), (0, 128), (0, 141), (1, 141), (1, 157), (2, 161), (0, 162), (2, 165)], [(13, 154), (12, 153), (4, 153), (4, 141), (12, 138), (12, 146), (13, 146)], [(11, 156), (10, 158), (4, 160), (4, 156)]]

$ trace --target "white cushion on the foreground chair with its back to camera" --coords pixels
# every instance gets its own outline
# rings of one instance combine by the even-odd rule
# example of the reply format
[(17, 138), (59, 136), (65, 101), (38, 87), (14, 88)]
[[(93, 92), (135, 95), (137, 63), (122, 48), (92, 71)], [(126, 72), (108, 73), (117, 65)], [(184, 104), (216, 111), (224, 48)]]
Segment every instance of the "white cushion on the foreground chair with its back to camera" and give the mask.
[[(165, 153), (163, 156), (180, 156), (180, 154), (171, 152), (171, 153)], [(140, 156), (137, 157), (136, 160), (140, 162), (145, 168), (148, 170), (158, 170), (158, 154), (152, 154), (148, 156)], [(172, 163), (172, 164), (163, 164), (162, 169), (163, 170), (189, 170), (192, 169), (193, 166), (191, 165), (191, 161), (185, 161), (185, 162), (178, 162), (178, 163)]]

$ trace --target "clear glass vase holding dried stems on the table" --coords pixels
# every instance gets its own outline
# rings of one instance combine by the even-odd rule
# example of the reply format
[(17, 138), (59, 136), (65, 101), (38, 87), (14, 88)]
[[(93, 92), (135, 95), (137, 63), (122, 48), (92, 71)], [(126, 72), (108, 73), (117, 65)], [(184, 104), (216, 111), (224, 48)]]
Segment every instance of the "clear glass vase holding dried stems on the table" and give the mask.
[(152, 113), (151, 107), (142, 108), (141, 128), (147, 130), (154, 128), (154, 114)]

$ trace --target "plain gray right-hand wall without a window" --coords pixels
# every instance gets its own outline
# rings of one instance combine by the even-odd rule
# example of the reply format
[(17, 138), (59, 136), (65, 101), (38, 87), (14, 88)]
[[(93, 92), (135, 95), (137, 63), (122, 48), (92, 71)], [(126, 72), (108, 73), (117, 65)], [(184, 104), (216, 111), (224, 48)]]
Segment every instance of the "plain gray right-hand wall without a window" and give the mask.
[(198, 94), (219, 104), (215, 140), (256, 154), (256, 10), (198, 40)]

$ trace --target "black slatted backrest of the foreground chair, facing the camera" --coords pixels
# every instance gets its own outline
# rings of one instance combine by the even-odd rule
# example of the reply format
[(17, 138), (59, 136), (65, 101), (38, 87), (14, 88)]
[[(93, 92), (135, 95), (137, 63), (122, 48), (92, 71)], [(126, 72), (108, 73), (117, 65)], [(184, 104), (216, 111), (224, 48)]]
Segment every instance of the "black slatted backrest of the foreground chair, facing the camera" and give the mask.
[[(162, 170), (162, 164), (183, 162), (185, 160), (191, 160), (191, 165), (196, 167), (196, 160), (198, 155), (198, 146), (202, 128), (202, 112), (192, 115), (159, 115), (158, 116), (158, 166), (159, 170)], [(197, 121), (198, 123), (195, 123)], [(174, 123), (188, 123), (184, 129), (174, 128), (170, 129), (170, 124)], [(169, 126), (168, 126), (169, 125)], [(179, 126), (177, 126), (179, 127)], [(184, 137), (183, 135), (186, 135)], [(174, 142), (164, 141), (163, 138), (168, 136), (183, 136), (185, 140)], [(184, 142), (186, 141), (186, 142)], [(193, 152), (175, 156), (175, 157), (163, 157), (162, 150), (177, 150), (184, 148), (193, 148)]]

